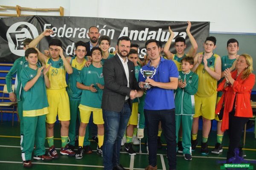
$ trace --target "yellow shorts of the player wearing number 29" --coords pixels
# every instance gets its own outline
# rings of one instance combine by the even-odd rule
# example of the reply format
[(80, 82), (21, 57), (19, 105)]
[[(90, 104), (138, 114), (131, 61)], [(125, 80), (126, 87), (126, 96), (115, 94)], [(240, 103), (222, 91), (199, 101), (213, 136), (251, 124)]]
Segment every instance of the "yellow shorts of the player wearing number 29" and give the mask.
[(49, 114), (46, 115), (46, 122), (49, 124), (56, 122), (56, 116), (60, 121), (70, 120), (70, 104), (66, 88), (60, 90), (47, 90), (49, 103)]

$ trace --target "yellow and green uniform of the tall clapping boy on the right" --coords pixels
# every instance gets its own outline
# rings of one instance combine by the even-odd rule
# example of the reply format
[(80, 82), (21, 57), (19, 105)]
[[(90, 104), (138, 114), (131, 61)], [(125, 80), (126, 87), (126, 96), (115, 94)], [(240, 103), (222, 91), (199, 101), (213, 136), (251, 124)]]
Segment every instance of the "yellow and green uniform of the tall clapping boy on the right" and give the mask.
[[(199, 53), (203, 54), (203, 52)], [(207, 66), (215, 71), (216, 59), (219, 56), (217, 54), (212, 54), (212, 56), (207, 59)], [(214, 79), (207, 71), (204, 69), (204, 61), (196, 69), (195, 73), (198, 75), (198, 92), (195, 94), (195, 115), (194, 117), (203, 116), (206, 119), (214, 119), (215, 117), (215, 105), (217, 99), (217, 80)]]

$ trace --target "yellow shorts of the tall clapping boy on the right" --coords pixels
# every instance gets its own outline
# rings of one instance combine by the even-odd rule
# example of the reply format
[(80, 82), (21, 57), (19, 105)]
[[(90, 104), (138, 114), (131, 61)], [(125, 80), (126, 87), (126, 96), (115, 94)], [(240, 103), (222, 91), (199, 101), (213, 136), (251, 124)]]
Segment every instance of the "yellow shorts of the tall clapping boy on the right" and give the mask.
[(210, 97), (198, 97), (195, 95), (195, 115), (194, 117), (203, 116), (206, 119), (212, 120), (215, 117), (217, 94)]

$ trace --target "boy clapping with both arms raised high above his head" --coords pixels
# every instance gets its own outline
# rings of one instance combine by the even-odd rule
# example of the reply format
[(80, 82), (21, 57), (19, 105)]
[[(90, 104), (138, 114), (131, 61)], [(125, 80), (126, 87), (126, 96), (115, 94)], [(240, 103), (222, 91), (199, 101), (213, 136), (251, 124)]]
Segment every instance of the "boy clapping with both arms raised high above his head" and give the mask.
[(175, 39), (174, 47), (176, 49), (176, 54), (172, 54), (171, 51), (169, 51), (169, 48), (171, 46), (171, 43), (174, 37), (174, 32), (171, 30), (170, 26), (169, 26), (170, 37), (163, 48), (163, 52), (166, 58), (172, 59), (175, 62), (175, 64), (177, 65), (178, 71), (181, 71), (181, 59), (183, 59), (185, 56), (194, 58), (198, 48), (195, 38), (190, 33), (191, 23), (190, 21), (188, 21), (187, 23), (188, 23), (188, 26), (186, 28), (186, 33), (189, 37), (189, 41), (192, 44), (192, 48), (189, 50), (189, 53), (187, 54), (185, 53), (186, 41), (183, 37), (177, 37)]

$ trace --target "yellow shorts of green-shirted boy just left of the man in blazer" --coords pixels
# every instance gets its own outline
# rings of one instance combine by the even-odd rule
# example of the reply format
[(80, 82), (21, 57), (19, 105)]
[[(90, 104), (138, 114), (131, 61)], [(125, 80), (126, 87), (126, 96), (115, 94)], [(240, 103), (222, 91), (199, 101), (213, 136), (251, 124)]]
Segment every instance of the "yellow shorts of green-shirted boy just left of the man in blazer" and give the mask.
[(104, 124), (102, 109), (101, 108), (92, 108), (85, 105), (79, 105), (80, 117), (82, 123), (89, 123), (90, 114), (93, 112), (93, 123), (96, 125)]

